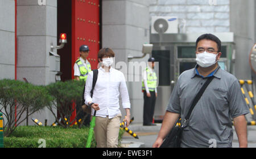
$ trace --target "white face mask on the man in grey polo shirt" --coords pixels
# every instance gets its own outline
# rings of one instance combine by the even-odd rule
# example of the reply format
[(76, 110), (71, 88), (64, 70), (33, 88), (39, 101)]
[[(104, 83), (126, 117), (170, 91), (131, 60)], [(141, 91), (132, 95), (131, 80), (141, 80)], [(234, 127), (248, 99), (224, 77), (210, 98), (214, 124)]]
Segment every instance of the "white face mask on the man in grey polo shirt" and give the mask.
[(216, 61), (216, 57), (218, 54), (204, 53), (196, 54), (196, 63), (201, 67), (209, 67), (214, 65)]

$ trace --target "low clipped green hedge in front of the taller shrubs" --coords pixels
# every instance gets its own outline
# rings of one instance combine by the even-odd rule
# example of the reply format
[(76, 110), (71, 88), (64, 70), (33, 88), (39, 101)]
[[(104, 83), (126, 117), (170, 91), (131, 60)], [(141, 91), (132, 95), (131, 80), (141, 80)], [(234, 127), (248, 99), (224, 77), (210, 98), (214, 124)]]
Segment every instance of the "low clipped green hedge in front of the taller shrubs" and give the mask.
[[(19, 126), (3, 140), (5, 148), (38, 148), (39, 139), (46, 140), (46, 148), (85, 148), (88, 132), (89, 127)], [(119, 143), (124, 132), (119, 131)], [(94, 137), (91, 147), (96, 147)]]

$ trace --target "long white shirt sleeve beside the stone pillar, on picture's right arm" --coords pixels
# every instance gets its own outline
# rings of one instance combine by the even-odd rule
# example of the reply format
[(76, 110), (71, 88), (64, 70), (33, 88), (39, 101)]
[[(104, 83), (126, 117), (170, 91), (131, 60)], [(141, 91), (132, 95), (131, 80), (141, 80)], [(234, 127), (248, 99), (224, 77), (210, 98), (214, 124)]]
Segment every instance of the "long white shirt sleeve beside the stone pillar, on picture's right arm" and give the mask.
[(129, 93), (126, 86), (125, 76), (123, 74), (121, 74), (121, 83), (119, 86), (119, 91), (122, 97), (123, 109), (126, 109), (126, 108), (130, 109), (131, 108), (130, 98), (129, 98)]

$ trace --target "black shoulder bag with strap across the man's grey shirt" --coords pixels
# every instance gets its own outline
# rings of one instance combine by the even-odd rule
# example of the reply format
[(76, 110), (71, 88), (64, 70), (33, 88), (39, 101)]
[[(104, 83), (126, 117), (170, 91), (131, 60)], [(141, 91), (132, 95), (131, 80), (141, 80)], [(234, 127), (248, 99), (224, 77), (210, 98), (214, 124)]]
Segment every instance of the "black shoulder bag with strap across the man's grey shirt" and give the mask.
[(183, 128), (185, 128), (187, 126), (188, 119), (191, 115), (191, 112), (192, 112), (193, 108), (195, 108), (197, 102), (200, 100), (200, 98), (203, 95), (205, 89), (207, 88), (207, 86), (209, 85), (210, 81), (212, 81), (213, 78), (214, 78), (214, 76), (210, 76), (207, 79), (207, 81), (205, 81), (203, 87), (196, 94), (196, 97), (194, 98), (194, 100), (193, 100), (193, 102), (190, 106), (190, 109), (188, 111), (188, 114), (185, 116), (183, 124), (181, 124), (181, 126), (177, 126), (177, 122), (180, 121), (180, 118), (179, 118), (177, 120), (177, 122), (174, 124), (174, 127), (172, 127), (170, 133), (164, 139), (160, 148), (179, 148), (180, 147), (181, 134), (182, 134)]

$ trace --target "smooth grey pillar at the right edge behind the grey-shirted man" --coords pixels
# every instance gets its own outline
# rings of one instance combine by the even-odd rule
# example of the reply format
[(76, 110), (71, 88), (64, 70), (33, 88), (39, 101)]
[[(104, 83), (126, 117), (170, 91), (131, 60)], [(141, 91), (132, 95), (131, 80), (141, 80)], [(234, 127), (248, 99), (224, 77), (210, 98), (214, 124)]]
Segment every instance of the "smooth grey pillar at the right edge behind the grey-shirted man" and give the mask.
[(232, 0), (230, 3), (230, 31), (236, 44), (235, 75), (238, 79), (251, 79), (249, 54), (255, 44), (255, 1)]

